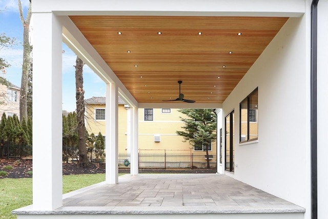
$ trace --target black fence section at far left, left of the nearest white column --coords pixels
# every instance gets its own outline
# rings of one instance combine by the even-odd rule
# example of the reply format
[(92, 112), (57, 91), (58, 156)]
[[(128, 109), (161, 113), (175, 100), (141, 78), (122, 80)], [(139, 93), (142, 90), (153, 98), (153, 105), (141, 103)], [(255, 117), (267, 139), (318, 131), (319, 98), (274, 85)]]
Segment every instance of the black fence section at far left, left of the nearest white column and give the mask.
[(32, 159), (32, 146), (2, 143), (0, 144), (0, 157), (22, 160)]

